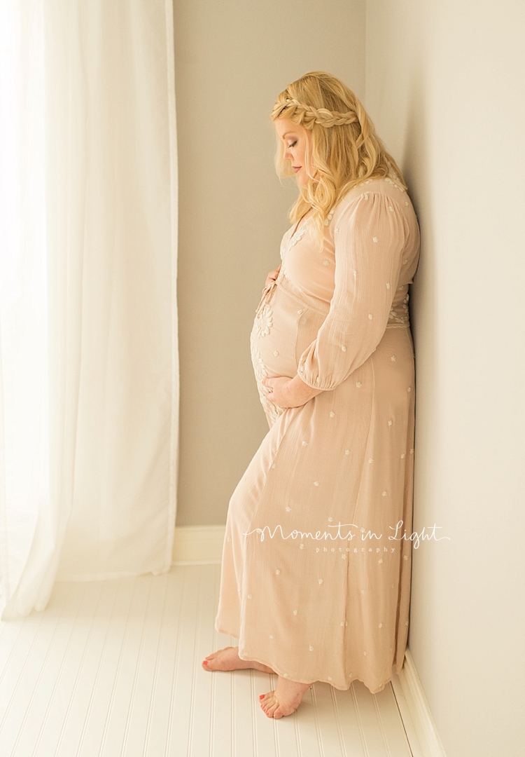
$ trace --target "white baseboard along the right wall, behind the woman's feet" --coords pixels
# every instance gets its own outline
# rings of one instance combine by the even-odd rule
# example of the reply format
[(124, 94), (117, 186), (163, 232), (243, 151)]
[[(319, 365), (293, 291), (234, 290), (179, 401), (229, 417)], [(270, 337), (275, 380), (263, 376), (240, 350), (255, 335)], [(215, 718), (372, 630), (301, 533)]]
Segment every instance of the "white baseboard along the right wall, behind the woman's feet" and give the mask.
[(446, 757), (410, 650), (392, 688), (414, 757)]

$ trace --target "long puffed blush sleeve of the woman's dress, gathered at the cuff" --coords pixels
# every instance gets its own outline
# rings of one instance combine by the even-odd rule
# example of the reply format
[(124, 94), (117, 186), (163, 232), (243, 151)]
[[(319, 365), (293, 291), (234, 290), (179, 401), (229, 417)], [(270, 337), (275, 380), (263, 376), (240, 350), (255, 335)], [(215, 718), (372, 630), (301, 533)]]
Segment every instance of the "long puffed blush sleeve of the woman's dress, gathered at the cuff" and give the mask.
[(334, 215), (335, 285), (317, 338), (297, 373), (315, 389), (334, 389), (381, 341), (409, 233), (401, 208), (380, 192), (363, 192)]

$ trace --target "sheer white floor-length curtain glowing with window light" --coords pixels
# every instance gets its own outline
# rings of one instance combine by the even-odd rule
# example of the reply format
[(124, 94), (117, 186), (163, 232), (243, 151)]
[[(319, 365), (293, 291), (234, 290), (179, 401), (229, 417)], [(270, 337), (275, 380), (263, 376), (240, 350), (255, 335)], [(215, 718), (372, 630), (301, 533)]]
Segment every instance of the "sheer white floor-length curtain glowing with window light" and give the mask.
[(170, 0), (0, 0), (2, 619), (169, 570), (179, 363)]

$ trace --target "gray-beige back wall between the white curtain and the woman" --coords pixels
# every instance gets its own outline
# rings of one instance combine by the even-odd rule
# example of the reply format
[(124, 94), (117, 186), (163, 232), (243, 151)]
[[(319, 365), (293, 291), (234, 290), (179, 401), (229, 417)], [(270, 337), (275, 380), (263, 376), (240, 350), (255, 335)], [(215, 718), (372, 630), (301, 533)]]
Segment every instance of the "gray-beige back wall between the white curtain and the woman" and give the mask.
[(309, 70), (365, 89), (364, 0), (175, 0), (181, 426), (177, 525), (225, 523), (268, 431), (250, 331), (297, 190), (269, 113)]

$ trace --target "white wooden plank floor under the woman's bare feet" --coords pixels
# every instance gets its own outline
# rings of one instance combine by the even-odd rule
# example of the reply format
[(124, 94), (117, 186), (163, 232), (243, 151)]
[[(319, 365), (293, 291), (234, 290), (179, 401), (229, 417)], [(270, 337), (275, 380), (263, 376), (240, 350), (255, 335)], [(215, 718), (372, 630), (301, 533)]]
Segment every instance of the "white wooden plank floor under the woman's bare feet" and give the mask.
[(203, 671), (219, 565), (57, 583), (44, 612), (0, 623), (2, 757), (411, 757), (390, 684), (317, 683), (275, 721), (277, 677)]

